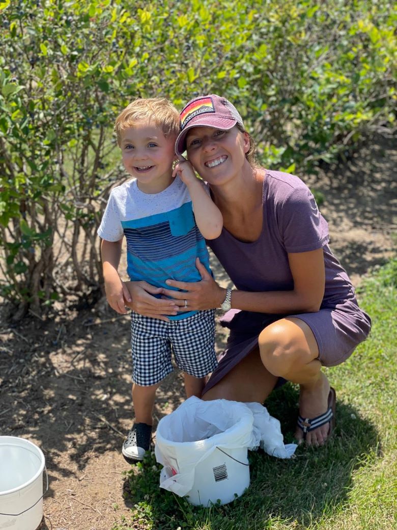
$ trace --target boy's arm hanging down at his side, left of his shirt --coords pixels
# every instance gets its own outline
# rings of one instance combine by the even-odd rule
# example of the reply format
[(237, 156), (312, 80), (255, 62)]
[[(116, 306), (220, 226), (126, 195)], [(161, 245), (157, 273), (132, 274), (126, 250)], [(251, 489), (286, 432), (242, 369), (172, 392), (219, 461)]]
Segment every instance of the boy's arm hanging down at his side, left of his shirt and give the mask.
[(114, 311), (125, 314), (127, 310), (125, 309), (124, 298), (127, 302), (131, 302), (131, 296), (118, 273), (122, 242), (122, 238), (119, 241), (106, 241), (103, 239), (101, 257), (107, 302)]

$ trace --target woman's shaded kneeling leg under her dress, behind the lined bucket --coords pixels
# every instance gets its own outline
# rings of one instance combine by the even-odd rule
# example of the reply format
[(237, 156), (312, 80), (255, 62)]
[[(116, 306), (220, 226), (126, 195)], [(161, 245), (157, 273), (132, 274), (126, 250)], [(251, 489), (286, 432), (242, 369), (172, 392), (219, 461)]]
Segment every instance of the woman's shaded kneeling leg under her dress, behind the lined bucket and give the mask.
[(277, 377), (270, 374), (264, 367), (259, 349), (255, 348), (232, 368), (219, 383), (207, 391), (202, 399), (228, 399), (248, 403), (256, 401), (263, 403), (272, 392)]

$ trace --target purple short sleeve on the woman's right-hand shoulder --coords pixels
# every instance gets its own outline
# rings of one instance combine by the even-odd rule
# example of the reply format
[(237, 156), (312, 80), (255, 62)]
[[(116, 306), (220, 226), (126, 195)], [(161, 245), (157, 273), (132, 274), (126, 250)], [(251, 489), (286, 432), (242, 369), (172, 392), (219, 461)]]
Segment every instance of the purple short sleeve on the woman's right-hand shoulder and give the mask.
[(279, 211), (278, 227), (287, 252), (317, 250), (329, 241), (328, 223), (307, 186), (293, 188)]

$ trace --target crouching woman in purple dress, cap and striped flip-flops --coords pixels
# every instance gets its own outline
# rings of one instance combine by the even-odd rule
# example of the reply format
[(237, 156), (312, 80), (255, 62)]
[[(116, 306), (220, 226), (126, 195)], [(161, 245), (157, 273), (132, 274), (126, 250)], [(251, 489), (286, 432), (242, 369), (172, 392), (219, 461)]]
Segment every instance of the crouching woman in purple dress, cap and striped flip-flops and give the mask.
[[(357, 305), (345, 270), (328, 247), (328, 225), (296, 176), (253, 162), (255, 144), (233, 105), (201, 96), (181, 113), (176, 153), (207, 182), (223, 216), (208, 244), (236, 289), (221, 288), (200, 262), (202, 281), (169, 280), (158, 289), (131, 286), (133, 307), (156, 316), (222, 307), (227, 350), (203, 399), (263, 403), (279, 377), (300, 385), (295, 437), (322, 445), (335, 422), (335, 391), (321, 366), (346, 360), (367, 337), (371, 320)], [(187, 162), (181, 162), (185, 164)], [(175, 304), (175, 305), (174, 305)]]

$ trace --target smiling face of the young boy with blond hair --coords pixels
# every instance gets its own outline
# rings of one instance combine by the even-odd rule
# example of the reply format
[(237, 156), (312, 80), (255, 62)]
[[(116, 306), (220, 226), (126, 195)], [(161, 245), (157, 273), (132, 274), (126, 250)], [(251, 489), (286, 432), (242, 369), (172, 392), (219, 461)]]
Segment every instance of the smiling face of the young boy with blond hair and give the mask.
[(138, 188), (144, 193), (159, 193), (172, 183), (175, 140), (146, 120), (121, 132), (124, 167), (138, 180)]

